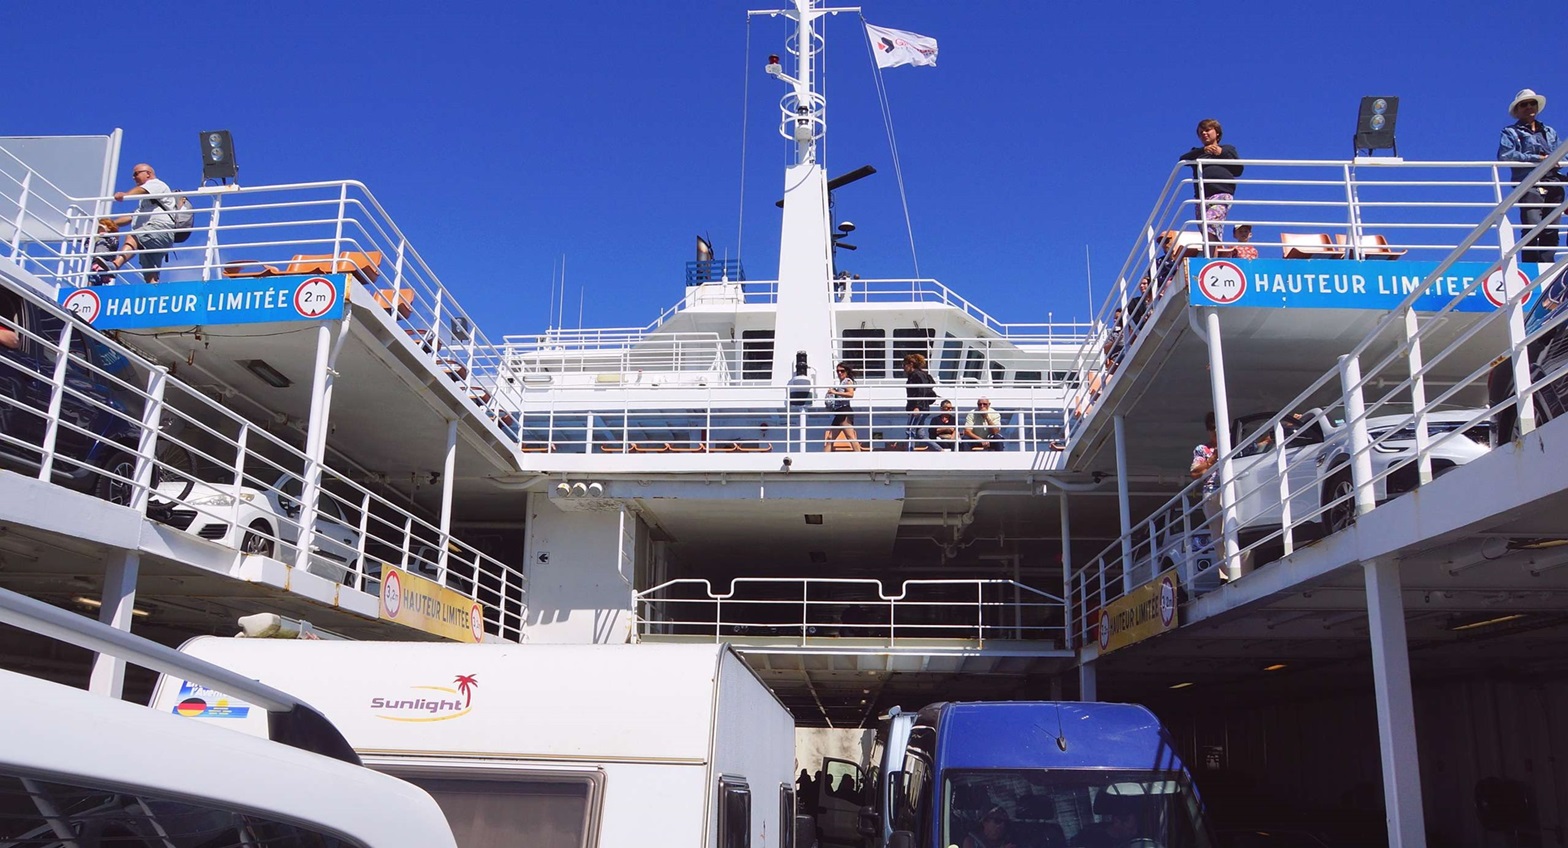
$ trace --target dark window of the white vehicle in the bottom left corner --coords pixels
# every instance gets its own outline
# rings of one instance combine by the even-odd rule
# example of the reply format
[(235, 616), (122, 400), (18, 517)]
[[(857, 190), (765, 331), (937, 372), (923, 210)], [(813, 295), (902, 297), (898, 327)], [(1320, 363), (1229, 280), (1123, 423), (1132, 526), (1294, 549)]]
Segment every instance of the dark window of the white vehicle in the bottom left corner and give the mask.
[[(58, 828), (75, 839), (60, 840)], [(0, 774), (5, 845), (270, 845), (348, 848), (361, 843), (307, 824), (273, 820), (215, 801), (176, 799)]]

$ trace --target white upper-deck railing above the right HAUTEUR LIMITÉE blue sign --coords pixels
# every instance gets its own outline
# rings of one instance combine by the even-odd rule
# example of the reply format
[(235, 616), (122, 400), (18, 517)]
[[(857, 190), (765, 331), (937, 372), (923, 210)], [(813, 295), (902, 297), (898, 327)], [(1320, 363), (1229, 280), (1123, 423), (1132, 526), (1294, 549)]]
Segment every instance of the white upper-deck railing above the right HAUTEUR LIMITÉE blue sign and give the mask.
[[(1328, 240), (1325, 252), (1309, 255), (1493, 262), (1504, 248), (1501, 227), (1486, 227), (1480, 238), (1471, 235), (1516, 187), (1512, 169), (1518, 163), (1242, 160), (1239, 165), (1247, 171), (1236, 180), (1225, 224), (1232, 229), (1250, 224), (1254, 232), (1250, 245), (1262, 259), (1281, 259), (1294, 248), (1284, 234), (1322, 234)], [(1118, 378), (1116, 365), (1135, 354), (1142, 328), (1171, 293), (1185, 292), (1185, 259), (1236, 255), (1234, 234), (1215, 237), (1204, 226), (1207, 205), (1195, 198), (1198, 180), (1187, 174), (1185, 163), (1171, 169), (1074, 357), (1083, 384), (1068, 403), (1069, 436)], [(1170, 249), (1163, 249), (1167, 232), (1174, 234)], [(1140, 295), (1145, 279), (1149, 287)], [(1178, 303), (1185, 304), (1185, 296)], [(1137, 321), (1129, 320), (1134, 313)]]

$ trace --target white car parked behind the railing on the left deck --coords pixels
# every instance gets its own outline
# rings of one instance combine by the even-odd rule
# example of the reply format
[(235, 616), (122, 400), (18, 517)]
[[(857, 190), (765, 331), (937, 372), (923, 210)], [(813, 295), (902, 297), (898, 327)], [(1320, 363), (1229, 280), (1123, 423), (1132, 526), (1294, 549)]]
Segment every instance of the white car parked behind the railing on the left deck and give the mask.
[[(271, 486), (246, 481), (238, 491), (232, 483), (176, 480), (157, 487), (162, 495), (157, 500), (163, 503), (154, 503), (149, 513), (204, 539), (293, 563), (299, 542), (301, 489), (299, 478), (289, 473)], [(343, 583), (350, 571), (358, 571), (358, 561), (359, 530), (343, 516), (336, 498), (317, 498), (315, 539), (306, 571)]]

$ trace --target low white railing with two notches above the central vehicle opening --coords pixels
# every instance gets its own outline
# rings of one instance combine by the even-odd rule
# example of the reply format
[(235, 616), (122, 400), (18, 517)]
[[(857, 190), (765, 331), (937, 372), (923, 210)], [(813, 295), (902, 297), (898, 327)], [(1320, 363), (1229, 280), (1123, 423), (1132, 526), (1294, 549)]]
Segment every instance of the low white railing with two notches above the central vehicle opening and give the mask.
[(726, 589), (682, 578), (637, 594), (638, 636), (735, 644), (853, 638), (887, 647), (920, 640), (1062, 646), (1063, 614), (1062, 597), (1014, 580), (905, 580), (889, 593), (872, 578), (740, 577)]

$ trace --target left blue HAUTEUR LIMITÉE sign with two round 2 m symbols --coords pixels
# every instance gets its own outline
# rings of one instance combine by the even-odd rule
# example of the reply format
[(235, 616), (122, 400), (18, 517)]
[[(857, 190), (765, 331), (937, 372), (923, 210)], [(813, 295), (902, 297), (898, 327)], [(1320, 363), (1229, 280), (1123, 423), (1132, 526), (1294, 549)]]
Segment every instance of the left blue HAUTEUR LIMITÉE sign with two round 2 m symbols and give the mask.
[(348, 274), (287, 274), (64, 288), (60, 304), (97, 329), (321, 321), (343, 317)]

